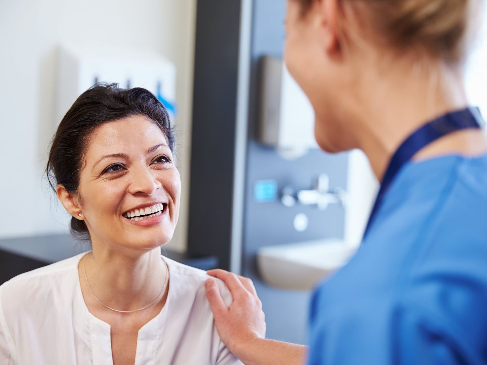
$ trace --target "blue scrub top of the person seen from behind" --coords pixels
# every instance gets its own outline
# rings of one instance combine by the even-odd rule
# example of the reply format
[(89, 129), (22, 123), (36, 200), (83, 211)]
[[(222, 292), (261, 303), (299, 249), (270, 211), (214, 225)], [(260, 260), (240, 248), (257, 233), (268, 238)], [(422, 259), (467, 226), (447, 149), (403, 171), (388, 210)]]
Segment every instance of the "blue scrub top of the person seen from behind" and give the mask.
[(487, 155), (405, 164), (310, 327), (312, 365), (487, 364)]

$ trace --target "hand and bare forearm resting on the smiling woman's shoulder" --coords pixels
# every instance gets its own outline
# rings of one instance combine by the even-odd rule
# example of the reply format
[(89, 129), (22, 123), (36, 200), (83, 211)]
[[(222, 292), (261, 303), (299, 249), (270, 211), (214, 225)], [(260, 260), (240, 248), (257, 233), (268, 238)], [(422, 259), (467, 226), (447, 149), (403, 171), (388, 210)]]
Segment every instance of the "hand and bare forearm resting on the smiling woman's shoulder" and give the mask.
[(265, 339), (265, 316), (262, 302), (252, 280), (225, 270), (209, 270), (207, 274), (222, 279), (232, 294), (226, 307), (218, 286), (206, 280), (206, 296), (215, 317), (220, 338), (245, 365), (304, 364), (307, 347)]

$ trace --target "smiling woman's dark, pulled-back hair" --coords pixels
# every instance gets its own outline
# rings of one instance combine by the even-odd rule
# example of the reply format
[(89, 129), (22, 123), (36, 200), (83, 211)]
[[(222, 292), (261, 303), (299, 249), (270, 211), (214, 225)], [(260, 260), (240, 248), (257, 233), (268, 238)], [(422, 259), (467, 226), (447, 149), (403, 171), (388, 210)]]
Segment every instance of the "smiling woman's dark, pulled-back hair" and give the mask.
[[(57, 127), (46, 166), (52, 189), (56, 191), (56, 185), (62, 184), (69, 194), (76, 195), (79, 173), (94, 130), (104, 123), (131, 115), (143, 115), (154, 122), (173, 151), (174, 133), (169, 114), (150, 91), (143, 88), (125, 90), (118, 84), (98, 83), (76, 99)], [(71, 234), (80, 240), (90, 240), (85, 222), (74, 217)]]

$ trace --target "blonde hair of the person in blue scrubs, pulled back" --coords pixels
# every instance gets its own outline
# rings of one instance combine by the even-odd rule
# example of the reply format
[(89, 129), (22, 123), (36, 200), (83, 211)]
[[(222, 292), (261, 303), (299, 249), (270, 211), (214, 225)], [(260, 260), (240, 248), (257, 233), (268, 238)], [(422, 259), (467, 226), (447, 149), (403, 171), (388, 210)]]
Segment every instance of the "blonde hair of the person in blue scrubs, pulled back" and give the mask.
[[(298, 0), (306, 11), (315, 0)], [(421, 49), (449, 62), (466, 55), (471, 3), (475, 0), (339, 0), (367, 13), (374, 31), (399, 49)]]

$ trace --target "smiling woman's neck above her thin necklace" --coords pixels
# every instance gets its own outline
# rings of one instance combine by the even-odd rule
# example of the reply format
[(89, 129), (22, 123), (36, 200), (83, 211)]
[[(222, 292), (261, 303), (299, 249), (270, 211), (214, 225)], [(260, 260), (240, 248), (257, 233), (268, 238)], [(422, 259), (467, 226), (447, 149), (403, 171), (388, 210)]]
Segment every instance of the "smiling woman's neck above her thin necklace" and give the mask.
[[(160, 248), (134, 255), (94, 244), (82, 268), (96, 297), (117, 310), (136, 310), (161, 293), (167, 272)], [(83, 273), (84, 274), (84, 273)], [(164, 293), (163, 293), (164, 294)]]

